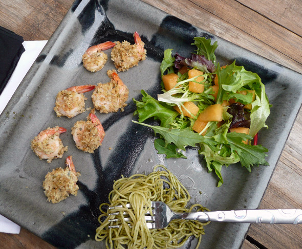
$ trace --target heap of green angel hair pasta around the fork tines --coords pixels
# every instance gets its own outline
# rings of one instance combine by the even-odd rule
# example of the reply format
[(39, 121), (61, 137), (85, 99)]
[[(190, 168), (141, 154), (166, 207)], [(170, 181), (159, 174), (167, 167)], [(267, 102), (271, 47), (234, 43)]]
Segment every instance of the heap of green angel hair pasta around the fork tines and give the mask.
[[(161, 170), (159, 170), (161, 169)], [(182, 246), (190, 236), (198, 238), (197, 247), (204, 234), (204, 225), (193, 220), (172, 220), (164, 229), (149, 230), (144, 215), (152, 213), (150, 201), (163, 201), (175, 212), (208, 211), (200, 204), (186, 208), (190, 195), (178, 178), (162, 165), (157, 165), (148, 175), (135, 174), (116, 180), (109, 194), (109, 203), (102, 203), (99, 216), (100, 227), (96, 230), (95, 239), (105, 240), (106, 248), (177, 248)], [(131, 203), (132, 208), (126, 207)], [(118, 215), (111, 215), (112, 210), (103, 210), (104, 206), (113, 207)], [(131, 217), (131, 222), (124, 221), (124, 211)], [(102, 219), (104, 219), (102, 221)], [(109, 219), (119, 218), (120, 222)], [(129, 225), (130, 223), (130, 225)], [(119, 228), (110, 225), (119, 224)]]

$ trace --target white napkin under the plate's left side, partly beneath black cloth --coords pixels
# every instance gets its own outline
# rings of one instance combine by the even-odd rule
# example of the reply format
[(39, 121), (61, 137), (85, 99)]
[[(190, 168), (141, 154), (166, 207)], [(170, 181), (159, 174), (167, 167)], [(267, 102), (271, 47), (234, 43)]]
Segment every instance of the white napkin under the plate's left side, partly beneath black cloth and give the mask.
[[(11, 78), (0, 95), (0, 114), (11, 99), (20, 82), (23, 80), (27, 71), (44, 48), (46, 42), (47, 40), (23, 42), (25, 52), (21, 55)], [(18, 234), (20, 233), (20, 226), (0, 214), (0, 232)]]

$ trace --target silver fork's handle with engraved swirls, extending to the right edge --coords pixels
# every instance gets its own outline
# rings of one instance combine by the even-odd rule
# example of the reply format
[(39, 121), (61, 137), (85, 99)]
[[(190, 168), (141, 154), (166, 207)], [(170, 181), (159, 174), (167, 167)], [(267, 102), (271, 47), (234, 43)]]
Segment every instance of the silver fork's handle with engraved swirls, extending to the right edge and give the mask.
[(302, 224), (301, 209), (255, 209), (188, 213), (183, 219), (240, 223)]

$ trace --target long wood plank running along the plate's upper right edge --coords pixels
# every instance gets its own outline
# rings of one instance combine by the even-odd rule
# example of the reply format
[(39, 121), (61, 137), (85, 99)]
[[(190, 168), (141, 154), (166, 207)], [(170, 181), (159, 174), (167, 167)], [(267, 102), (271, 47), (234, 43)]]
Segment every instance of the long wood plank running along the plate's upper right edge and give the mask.
[(143, 1), (302, 73), (302, 38), (236, 1), (184, 0), (182, 5), (175, 0)]

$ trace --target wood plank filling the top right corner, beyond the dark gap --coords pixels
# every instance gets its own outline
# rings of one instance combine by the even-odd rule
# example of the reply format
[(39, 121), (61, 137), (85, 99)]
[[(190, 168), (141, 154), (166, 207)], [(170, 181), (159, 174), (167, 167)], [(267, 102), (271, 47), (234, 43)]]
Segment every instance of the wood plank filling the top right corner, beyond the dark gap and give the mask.
[(265, 2), (238, 0), (238, 2), (298, 36), (302, 36), (302, 4), (300, 0), (266, 0)]

